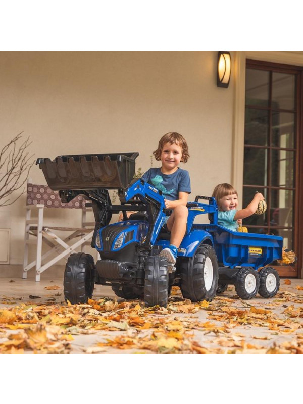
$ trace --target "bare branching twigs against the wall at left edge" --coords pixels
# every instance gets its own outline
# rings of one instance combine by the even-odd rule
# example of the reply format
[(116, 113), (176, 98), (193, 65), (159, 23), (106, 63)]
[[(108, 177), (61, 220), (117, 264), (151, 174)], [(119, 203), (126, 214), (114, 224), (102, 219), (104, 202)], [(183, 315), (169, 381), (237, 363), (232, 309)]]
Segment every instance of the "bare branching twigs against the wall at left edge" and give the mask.
[(20, 198), (25, 188), (13, 200), (10, 195), (23, 187), (34, 164), (34, 155), (29, 155), (27, 150), (31, 145), (29, 137), (20, 146), (18, 144), (22, 133), (15, 136), (0, 151), (0, 206), (11, 205)]

